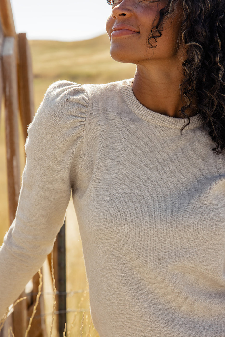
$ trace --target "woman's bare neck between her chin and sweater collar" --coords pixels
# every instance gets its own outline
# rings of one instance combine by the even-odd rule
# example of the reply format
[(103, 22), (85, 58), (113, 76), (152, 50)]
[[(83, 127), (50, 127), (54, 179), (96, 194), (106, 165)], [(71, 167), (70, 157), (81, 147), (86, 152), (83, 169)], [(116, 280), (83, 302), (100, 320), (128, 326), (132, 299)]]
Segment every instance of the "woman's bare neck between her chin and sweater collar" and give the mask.
[[(185, 105), (179, 88), (182, 79), (180, 61), (168, 64), (160, 60), (151, 62), (150, 66), (137, 64), (133, 92), (146, 108), (162, 115), (181, 118), (179, 110)], [(191, 108), (186, 112), (189, 117), (195, 114)]]

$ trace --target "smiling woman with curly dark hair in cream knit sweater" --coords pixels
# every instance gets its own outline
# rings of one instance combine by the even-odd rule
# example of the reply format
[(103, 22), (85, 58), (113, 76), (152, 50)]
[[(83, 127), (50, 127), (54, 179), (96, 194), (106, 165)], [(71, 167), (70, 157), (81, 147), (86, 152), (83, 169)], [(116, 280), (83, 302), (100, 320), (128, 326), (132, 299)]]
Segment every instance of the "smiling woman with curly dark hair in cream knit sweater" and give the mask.
[(112, 1), (111, 55), (137, 71), (47, 90), (0, 251), (0, 315), (50, 253), (72, 188), (101, 337), (225, 337), (224, 12)]

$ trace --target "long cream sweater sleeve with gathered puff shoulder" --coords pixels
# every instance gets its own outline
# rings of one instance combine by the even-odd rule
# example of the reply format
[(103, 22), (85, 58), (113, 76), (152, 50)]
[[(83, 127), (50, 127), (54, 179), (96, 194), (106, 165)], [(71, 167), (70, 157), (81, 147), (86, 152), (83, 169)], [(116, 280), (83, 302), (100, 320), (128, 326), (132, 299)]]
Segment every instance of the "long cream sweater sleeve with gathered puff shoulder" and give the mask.
[(31, 125), (15, 220), (0, 249), (0, 318), (44, 263), (76, 183), (88, 97), (78, 84), (49, 87)]

